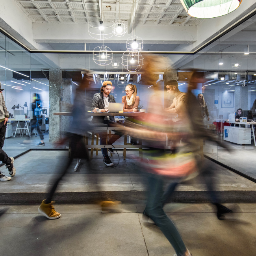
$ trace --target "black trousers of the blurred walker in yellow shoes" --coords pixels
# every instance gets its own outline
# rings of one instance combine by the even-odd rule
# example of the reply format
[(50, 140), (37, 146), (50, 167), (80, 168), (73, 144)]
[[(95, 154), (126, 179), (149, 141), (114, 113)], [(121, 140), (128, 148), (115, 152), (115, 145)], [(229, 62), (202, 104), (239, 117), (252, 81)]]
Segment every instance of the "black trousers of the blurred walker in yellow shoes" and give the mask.
[(76, 134), (70, 135), (70, 158), (67, 159), (67, 162), (65, 164), (65, 168), (63, 169), (63, 171), (54, 180), (54, 185), (50, 189), (50, 192), (47, 196), (46, 204), (52, 201), (52, 197), (58, 187), (59, 182), (61, 181), (63, 176), (67, 173), (67, 170), (69, 169), (74, 158), (86, 159), (88, 161), (89, 169), (91, 170), (88, 151), (86, 150), (85, 145), (83, 143), (82, 135), (76, 135)]

